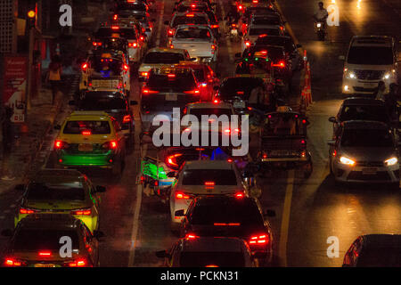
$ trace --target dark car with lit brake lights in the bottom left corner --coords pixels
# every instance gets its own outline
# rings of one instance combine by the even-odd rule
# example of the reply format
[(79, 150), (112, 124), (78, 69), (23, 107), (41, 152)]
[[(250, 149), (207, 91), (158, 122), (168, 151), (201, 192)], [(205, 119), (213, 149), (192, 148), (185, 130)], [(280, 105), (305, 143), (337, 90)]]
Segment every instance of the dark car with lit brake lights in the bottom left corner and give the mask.
[[(11, 238), (4, 250), (4, 267), (99, 266), (99, 240), (104, 234), (91, 233), (81, 220), (68, 214), (31, 214), (14, 231), (2, 234)], [(69, 242), (71, 255), (61, 256), (61, 247)]]

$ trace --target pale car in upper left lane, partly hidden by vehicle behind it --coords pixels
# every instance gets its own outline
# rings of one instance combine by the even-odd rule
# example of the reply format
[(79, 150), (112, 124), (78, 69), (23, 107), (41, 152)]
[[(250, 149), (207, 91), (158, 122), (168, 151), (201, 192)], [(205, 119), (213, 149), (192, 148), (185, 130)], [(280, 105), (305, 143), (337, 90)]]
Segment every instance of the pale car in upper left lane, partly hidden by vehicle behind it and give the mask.
[(94, 33), (95, 38), (112, 37), (113, 35), (127, 38), (129, 63), (141, 61), (144, 53), (144, 45), (140, 33), (135, 26), (128, 27), (126, 25), (121, 27), (121, 25), (112, 25), (110, 27), (101, 27)]

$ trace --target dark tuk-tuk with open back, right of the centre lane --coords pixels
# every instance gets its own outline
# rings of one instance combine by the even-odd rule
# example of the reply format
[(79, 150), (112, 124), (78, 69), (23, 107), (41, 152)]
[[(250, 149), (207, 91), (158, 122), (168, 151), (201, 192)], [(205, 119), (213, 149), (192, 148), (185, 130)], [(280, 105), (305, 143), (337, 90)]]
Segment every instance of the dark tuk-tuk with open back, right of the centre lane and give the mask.
[(307, 151), (307, 118), (288, 106), (267, 113), (260, 128), (258, 162), (262, 167), (302, 167), (304, 177), (312, 174)]

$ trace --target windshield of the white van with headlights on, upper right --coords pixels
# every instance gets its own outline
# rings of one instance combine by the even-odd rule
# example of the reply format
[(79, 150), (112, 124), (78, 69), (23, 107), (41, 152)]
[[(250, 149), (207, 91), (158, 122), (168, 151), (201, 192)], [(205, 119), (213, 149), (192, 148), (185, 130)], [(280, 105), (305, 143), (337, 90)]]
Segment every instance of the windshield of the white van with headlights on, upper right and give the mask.
[(348, 53), (349, 64), (390, 65), (393, 53), (385, 46), (353, 46)]

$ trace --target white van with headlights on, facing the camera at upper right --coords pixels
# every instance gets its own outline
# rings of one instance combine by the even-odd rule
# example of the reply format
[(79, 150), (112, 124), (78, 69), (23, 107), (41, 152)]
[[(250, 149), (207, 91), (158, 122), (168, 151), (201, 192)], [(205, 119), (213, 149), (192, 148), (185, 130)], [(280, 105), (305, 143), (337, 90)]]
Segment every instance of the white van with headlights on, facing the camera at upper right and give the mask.
[(354, 36), (349, 44), (342, 77), (343, 94), (372, 94), (379, 81), (397, 83), (397, 47), (394, 37)]

